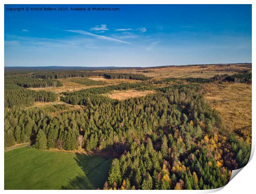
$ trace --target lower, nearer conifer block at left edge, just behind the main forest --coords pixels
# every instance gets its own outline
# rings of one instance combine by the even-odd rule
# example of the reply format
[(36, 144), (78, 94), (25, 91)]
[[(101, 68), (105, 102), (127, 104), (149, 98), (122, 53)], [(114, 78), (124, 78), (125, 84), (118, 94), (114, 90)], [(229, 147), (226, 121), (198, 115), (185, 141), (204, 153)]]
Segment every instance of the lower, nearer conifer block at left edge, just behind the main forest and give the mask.
[(35, 102), (53, 102), (56, 94), (46, 91), (34, 91), (15, 84), (5, 85), (5, 108), (33, 106)]

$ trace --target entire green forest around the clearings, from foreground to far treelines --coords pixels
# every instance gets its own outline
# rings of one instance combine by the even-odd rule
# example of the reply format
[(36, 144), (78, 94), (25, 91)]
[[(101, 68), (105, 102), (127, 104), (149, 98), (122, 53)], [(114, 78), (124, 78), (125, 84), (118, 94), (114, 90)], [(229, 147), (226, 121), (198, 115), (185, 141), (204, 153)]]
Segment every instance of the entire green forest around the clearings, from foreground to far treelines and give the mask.
[[(62, 78), (90, 76), (142, 81), (62, 92), (60, 100), (67, 104), (52, 106), (61, 112), (55, 116), (52, 110), (29, 107), (57, 99), (54, 92), (29, 88), (59, 87)], [(225, 132), (220, 114), (205, 101), (202, 84), (218, 81), (251, 83), (251, 74), (161, 80), (97, 71), (6, 74), (5, 147), (31, 142), (36, 149), (115, 153), (100, 189), (223, 187), (231, 170), (247, 164), (251, 144)], [(125, 100), (102, 95), (130, 89), (155, 93)], [(67, 109), (71, 105), (82, 108)]]

